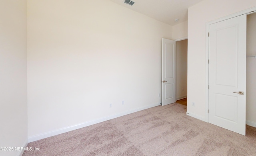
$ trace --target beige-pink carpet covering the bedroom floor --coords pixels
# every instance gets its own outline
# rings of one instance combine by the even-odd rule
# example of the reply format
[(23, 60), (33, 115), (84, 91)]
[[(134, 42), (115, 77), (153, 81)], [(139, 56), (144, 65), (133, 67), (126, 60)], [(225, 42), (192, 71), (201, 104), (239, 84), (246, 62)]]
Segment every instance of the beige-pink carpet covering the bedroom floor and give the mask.
[(23, 156), (256, 156), (256, 128), (246, 136), (158, 106), (28, 144)]

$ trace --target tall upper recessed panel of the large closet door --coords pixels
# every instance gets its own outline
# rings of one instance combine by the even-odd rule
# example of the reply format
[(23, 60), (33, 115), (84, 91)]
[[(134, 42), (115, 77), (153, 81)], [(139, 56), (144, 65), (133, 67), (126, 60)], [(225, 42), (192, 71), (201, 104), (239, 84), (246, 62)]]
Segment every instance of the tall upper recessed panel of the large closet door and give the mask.
[[(216, 84), (237, 86), (238, 25), (216, 29)], [(226, 41), (228, 36), (229, 41)], [(235, 45), (235, 46), (233, 46)], [(229, 72), (226, 72), (229, 71)]]

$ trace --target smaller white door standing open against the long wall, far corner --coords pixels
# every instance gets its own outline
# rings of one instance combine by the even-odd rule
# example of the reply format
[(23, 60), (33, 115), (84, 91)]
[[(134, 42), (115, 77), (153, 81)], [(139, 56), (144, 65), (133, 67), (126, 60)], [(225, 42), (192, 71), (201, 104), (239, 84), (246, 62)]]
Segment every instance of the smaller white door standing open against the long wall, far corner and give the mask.
[(176, 102), (176, 41), (162, 39), (162, 105)]

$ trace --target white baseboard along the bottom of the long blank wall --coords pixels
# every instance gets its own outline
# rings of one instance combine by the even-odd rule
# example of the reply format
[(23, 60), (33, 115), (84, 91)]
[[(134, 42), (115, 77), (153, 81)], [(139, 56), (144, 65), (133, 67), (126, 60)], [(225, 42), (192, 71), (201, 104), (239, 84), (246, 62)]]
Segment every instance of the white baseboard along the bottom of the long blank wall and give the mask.
[(117, 117), (128, 115), (130, 113), (135, 113), (137, 111), (142, 111), (144, 109), (148, 109), (148, 108), (151, 108), (151, 107), (156, 107), (158, 105), (161, 105), (161, 104), (157, 103), (157, 104), (148, 105), (148, 106), (145, 106), (145, 107), (139, 107), (139, 108), (132, 109), (132, 110), (129, 110), (129, 111), (124, 111), (122, 113), (118, 113), (118, 114), (115, 114), (115, 115), (110, 115), (108, 117), (103, 117), (103, 118), (96, 119), (96, 120), (93, 120), (93, 121), (88, 121), (88, 122), (85, 122), (85, 123), (80, 123), (78, 125), (74, 125), (74, 126), (70, 126), (70, 127), (65, 127), (65, 128), (62, 128), (62, 129), (57, 129), (57, 130), (46, 132), (46, 133), (42, 133), (42, 134), (39, 134), (39, 135), (29, 136), (28, 137), (28, 142), (33, 142), (33, 141), (41, 140), (43, 138), (48, 138), (50, 136), (59, 135), (59, 134), (62, 134), (62, 133), (66, 133), (66, 132), (69, 132), (69, 131), (73, 131), (73, 130), (76, 130), (76, 129), (87, 127), (87, 126), (90, 126), (90, 125), (94, 125), (96, 123), (101, 123), (103, 121), (108, 121), (110, 119), (114, 119), (114, 118), (117, 118)]

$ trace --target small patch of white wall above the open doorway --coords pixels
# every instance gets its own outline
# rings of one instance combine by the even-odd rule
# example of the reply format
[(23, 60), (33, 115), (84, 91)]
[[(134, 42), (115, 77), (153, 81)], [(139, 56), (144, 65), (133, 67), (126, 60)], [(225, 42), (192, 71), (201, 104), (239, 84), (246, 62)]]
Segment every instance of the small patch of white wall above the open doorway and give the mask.
[(188, 21), (172, 26), (172, 39), (179, 40), (188, 38)]

